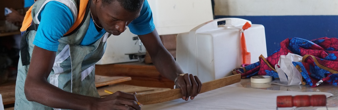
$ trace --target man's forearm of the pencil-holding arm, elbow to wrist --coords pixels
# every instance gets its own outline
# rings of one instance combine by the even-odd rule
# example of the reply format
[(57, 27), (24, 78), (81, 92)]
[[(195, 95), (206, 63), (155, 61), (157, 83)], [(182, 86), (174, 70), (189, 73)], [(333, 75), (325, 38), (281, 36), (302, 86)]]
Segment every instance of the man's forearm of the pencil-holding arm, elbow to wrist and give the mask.
[(99, 98), (66, 92), (47, 81), (26, 79), (25, 94), (29, 101), (62, 109), (89, 110)]

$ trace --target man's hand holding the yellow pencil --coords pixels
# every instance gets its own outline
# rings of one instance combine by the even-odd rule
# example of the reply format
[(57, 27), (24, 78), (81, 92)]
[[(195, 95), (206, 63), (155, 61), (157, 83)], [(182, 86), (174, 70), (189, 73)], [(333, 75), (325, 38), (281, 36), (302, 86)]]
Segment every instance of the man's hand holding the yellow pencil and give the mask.
[(92, 110), (141, 110), (134, 94), (117, 91), (101, 98)]

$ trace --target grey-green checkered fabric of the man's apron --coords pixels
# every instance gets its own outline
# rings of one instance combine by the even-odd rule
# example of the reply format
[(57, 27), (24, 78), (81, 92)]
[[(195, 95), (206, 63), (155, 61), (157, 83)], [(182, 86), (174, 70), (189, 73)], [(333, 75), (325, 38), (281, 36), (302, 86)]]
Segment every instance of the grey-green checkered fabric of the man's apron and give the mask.
[[(40, 7), (43, 7), (43, 3), (46, 0), (38, 0), (34, 3), (32, 8), (32, 17), (33, 21), (37, 23), (34, 19), (35, 14), (40, 10)], [(76, 5), (75, 1), (72, 2)], [(90, 13), (88, 13), (90, 15)], [(90, 22), (90, 16), (85, 18), (83, 25), (73, 34), (69, 36), (64, 36), (59, 39), (59, 46), (56, 55), (58, 55), (66, 45), (70, 47), (70, 57), (63, 61), (60, 66), (63, 68), (63, 73), (58, 76), (58, 87), (72, 93), (77, 93), (81, 95), (87, 95), (91, 97), (99, 97), (99, 94), (95, 87), (95, 69), (81, 81), (81, 72), (86, 70), (88, 67), (94, 65), (98, 60), (101, 59), (105, 48), (106, 43), (100, 42), (101, 38), (98, 39), (95, 43), (89, 46), (81, 46), (80, 43), (86, 34)], [(34, 45), (33, 40), (35, 37), (36, 31), (25, 32), (24, 35), (27, 36), (29, 60), (31, 58), (31, 53), (33, 51)], [(18, 64), (18, 77), (16, 83), (15, 91), (15, 109), (16, 110), (52, 110), (53, 108), (44, 106), (36, 102), (27, 101), (24, 94), (24, 84), (28, 71), (29, 65), (22, 66), (21, 57)], [(23, 56), (25, 57), (25, 56)], [(54, 74), (52, 70), (50, 76)], [(49, 82), (50, 77), (47, 81)]]

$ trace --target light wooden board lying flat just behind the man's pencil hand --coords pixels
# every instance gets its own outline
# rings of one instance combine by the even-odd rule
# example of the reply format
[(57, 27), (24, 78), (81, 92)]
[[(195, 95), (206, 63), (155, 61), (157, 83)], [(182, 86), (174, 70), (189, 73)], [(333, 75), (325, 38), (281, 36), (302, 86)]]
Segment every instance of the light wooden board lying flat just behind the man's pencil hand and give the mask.
[(112, 92), (123, 91), (127, 93), (143, 94), (143, 93), (152, 93), (152, 92), (160, 92), (164, 90), (170, 90), (170, 88), (157, 88), (157, 87), (141, 87), (141, 86), (133, 86), (133, 85), (125, 85), (125, 84), (117, 84), (111, 85), (107, 87), (98, 88), (97, 92), (101, 97), (105, 97), (108, 93), (104, 92), (104, 90), (109, 90)]

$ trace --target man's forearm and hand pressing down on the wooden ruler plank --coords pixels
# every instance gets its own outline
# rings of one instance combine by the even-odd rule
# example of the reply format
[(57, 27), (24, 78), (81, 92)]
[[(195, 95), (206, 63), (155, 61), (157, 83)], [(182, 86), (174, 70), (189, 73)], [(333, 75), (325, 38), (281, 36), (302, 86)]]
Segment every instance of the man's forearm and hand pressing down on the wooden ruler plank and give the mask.
[[(151, 33), (139, 35), (139, 38), (149, 52), (156, 70), (158, 70), (162, 76), (174, 81), (177, 74), (183, 73), (172, 55), (164, 48), (156, 29)], [(194, 99), (202, 87), (202, 83), (198, 77), (192, 74), (178, 76), (175, 85), (182, 89), (182, 99), (186, 101), (189, 100), (189, 97), (190, 99)]]

